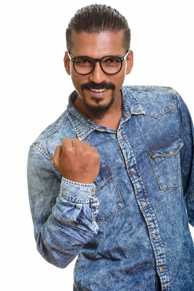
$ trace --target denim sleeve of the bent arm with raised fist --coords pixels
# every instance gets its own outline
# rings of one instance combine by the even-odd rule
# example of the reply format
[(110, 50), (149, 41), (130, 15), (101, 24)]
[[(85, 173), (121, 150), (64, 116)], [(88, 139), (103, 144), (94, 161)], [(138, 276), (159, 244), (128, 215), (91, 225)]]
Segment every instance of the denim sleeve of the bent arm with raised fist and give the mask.
[(97, 234), (95, 184), (65, 179), (33, 146), (27, 176), (37, 250), (49, 263), (65, 268)]

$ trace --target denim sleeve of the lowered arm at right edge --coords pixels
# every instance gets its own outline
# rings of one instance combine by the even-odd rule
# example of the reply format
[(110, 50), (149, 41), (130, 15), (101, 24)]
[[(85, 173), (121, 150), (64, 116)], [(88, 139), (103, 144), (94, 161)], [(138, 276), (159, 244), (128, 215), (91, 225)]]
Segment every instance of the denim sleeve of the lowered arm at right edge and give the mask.
[(189, 224), (194, 226), (194, 126), (189, 109), (177, 91), (181, 176)]

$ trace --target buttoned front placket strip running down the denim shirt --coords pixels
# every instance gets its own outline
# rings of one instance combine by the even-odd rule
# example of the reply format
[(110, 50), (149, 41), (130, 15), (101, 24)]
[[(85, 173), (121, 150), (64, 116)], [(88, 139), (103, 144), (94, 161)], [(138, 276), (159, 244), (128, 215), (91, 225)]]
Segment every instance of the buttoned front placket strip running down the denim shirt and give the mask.
[(122, 116), (117, 130), (118, 144), (125, 158), (127, 172), (134, 187), (136, 200), (146, 223), (150, 242), (154, 250), (157, 273), (161, 279), (162, 291), (169, 291), (169, 275), (166, 269), (165, 252), (159, 234), (158, 222), (154, 210), (149, 203), (146, 189), (144, 187), (143, 180), (138, 170), (138, 165), (135, 159), (134, 152), (129, 144), (129, 141), (127, 140), (123, 126), (124, 122), (129, 120), (131, 114), (126, 113), (124, 116), (125, 118)]

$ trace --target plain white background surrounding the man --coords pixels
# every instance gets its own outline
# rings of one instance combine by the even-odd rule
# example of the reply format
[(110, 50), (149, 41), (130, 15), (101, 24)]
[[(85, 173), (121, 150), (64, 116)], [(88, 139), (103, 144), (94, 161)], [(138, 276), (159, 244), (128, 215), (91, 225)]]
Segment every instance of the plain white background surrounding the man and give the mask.
[[(194, 120), (193, 1), (107, 0), (131, 28), (128, 85), (164, 85)], [(71, 291), (75, 260), (58, 269), (36, 251), (26, 165), (38, 134), (65, 111), (74, 90), (65, 72), (65, 29), (91, 1), (6, 0), (0, 4), (1, 290)], [(194, 239), (194, 228), (191, 229)], [(2, 275), (2, 272), (1, 272)]]

